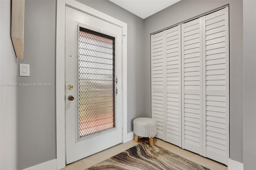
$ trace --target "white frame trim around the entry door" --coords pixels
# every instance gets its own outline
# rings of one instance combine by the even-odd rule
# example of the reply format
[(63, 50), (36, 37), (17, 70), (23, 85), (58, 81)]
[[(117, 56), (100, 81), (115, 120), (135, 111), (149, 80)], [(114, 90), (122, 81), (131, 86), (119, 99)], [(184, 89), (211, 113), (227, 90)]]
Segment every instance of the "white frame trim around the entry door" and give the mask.
[(122, 28), (122, 128), (123, 143), (129, 140), (127, 133), (127, 24), (86, 6), (76, 0), (57, 0), (56, 15), (56, 154), (57, 169), (66, 166), (65, 130), (65, 8), (75, 8), (81, 12), (100, 18)]

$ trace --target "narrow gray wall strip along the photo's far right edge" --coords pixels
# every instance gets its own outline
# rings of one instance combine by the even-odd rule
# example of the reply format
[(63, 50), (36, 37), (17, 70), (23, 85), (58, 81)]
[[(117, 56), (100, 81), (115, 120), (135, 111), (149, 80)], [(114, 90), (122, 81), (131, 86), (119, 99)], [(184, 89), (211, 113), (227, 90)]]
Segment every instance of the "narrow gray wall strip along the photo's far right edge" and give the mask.
[(256, 1), (243, 1), (244, 170), (256, 169)]

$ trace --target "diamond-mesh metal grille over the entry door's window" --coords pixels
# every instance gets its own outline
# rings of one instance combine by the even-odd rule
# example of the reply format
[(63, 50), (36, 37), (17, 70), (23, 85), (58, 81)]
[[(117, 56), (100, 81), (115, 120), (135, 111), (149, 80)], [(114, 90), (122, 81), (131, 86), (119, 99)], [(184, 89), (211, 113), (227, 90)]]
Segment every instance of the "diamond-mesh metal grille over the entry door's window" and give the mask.
[(80, 27), (80, 137), (115, 127), (115, 38)]

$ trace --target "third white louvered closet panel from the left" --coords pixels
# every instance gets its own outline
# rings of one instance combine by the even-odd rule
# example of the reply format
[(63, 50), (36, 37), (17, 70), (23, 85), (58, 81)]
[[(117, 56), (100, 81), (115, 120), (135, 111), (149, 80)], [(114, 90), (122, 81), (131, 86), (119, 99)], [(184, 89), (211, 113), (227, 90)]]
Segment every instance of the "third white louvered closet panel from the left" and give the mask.
[(202, 155), (202, 17), (182, 32), (182, 148)]

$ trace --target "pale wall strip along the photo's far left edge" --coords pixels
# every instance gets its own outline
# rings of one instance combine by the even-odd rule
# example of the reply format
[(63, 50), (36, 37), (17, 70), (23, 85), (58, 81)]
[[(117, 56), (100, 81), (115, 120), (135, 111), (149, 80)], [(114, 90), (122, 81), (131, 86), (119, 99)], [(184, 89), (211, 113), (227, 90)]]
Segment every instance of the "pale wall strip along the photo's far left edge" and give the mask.
[[(17, 83), (17, 59), (11, 40), (11, 0), (0, 0), (0, 83)], [(17, 87), (0, 86), (0, 170), (18, 166)]]

